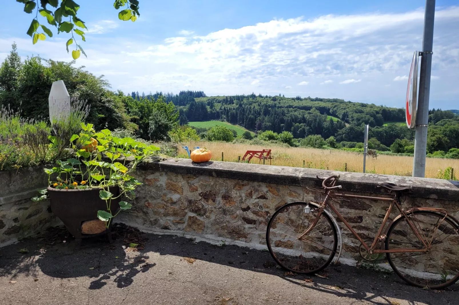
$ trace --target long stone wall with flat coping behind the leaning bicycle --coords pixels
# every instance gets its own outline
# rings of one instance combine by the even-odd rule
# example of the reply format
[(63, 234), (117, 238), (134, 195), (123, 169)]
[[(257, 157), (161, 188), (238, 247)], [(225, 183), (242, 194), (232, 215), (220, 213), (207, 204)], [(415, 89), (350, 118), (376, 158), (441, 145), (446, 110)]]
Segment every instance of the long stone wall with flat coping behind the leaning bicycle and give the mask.
[[(144, 184), (136, 190), (134, 207), (120, 213), (118, 221), (156, 232), (236, 241), (257, 249), (266, 249), (266, 227), (278, 207), (286, 202), (320, 200), (306, 188), (320, 185), (316, 175), (340, 174), (343, 190), (356, 195), (392, 197), (377, 188), (384, 181), (412, 185), (413, 194), (403, 207), (444, 207), (459, 218), (459, 184), (448, 180), (246, 163), (196, 164), (189, 159), (150, 163), (136, 174)], [(389, 205), (356, 199), (333, 204), (367, 241), (374, 239)], [(395, 211), (391, 218), (397, 215)], [(343, 223), (340, 226), (342, 257), (352, 263), (359, 259), (360, 243)]]

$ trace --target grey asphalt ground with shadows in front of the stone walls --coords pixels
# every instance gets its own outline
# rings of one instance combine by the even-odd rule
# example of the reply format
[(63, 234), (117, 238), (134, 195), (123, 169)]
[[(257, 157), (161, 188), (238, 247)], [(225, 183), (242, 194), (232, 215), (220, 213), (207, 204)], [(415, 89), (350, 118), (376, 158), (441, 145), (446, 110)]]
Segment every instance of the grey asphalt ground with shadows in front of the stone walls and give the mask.
[(423, 290), (343, 265), (306, 277), (279, 269), (266, 251), (115, 231), (113, 244), (54, 228), (0, 248), (0, 304), (459, 304), (459, 285)]

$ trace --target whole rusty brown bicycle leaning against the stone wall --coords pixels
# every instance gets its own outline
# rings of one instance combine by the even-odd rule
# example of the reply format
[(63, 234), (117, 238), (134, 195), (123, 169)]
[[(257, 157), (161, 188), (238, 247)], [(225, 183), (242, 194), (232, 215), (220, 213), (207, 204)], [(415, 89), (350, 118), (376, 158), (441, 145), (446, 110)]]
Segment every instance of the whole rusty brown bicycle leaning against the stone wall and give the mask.
[[(274, 212), (266, 229), (266, 244), (280, 266), (291, 272), (315, 274), (330, 264), (336, 255), (339, 230), (336, 220), (325, 209), (330, 207), (360, 242), (359, 252), (365, 260), (375, 261), (381, 258), (381, 253), (386, 253), (393, 271), (405, 282), (421, 288), (442, 289), (459, 279), (459, 222), (446, 209), (413, 207), (405, 210), (401, 207), (401, 197), (411, 187), (391, 183), (381, 183), (379, 187), (395, 193), (393, 198), (336, 193), (342, 188), (336, 185), (338, 179), (337, 175), (325, 178), (323, 189), (308, 187), (325, 194), (323, 201), (291, 202)], [(333, 206), (337, 198), (391, 202), (371, 245), (366, 244)], [(400, 215), (384, 230), (394, 206)], [(441, 274), (437, 270), (442, 270)]]

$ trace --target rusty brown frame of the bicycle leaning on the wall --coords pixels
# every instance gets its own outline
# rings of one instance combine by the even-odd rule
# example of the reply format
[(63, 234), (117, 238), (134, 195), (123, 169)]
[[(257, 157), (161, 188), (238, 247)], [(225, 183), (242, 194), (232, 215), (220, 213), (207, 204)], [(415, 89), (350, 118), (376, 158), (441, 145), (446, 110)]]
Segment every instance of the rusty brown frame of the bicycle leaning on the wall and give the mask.
[[(332, 187), (335, 186), (336, 181), (337, 181), (336, 179), (333, 181)], [(419, 232), (419, 230), (409, 220), (409, 216), (408, 215), (411, 212), (413, 212), (414, 210), (435, 211), (435, 212), (439, 212), (441, 214), (444, 214), (443, 219), (439, 223), (437, 223), (436, 229), (438, 229), (440, 227), (441, 223), (443, 222), (443, 220), (445, 220), (445, 218), (448, 217), (448, 211), (445, 210), (445, 209), (440, 209), (440, 208), (412, 208), (412, 209), (409, 209), (408, 211), (405, 211), (403, 208), (400, 207), (401, 202), (400, 202), (400, 194), (399, 193), (396, 193), (393, 198), (340, 194), (340, 193), (335, 193), (334, 191), (331, 191), (331, 190), (326, 191), (325, 193), (326, 193), (326, 196), (325, 196), (324, 201), (320, 203), (319, 212), (317, 214), (317, 217), (314, 219), (314, 221), (311, 224), (311, 226), (308, 229), (306, 229), (302, 234), (300, 234), (298, 236), (298, 239), (301, 239), (304, 235), (308, 234), (315, 227), (317, 222), (319, 221), (319, 218), (322, 215), (322, 212), (324, 211), (324, 209), (326, 207), (330, 207), (330, 209), (333, 212), (335, 212), (336, 216), (338, 216), (338, 218), (341, 219), (341, 221), (351, 231), (351, 233), (355, 236), (355, 238), (357, 238), (358, 241), (360, 241), (360, 243), (365, 247), (366, 251), (368, 251), (370, 254), (373, 254), (373, 253), (394, 253), (394, 252), (426, 252), (426, 251), (429, 251), (430, 248), (431, 248), (431, 243), (432, 243), (433, 236), (432, 236), (431, 240), (428, 240), (428, 238), (424, 235), (424, 237), (425, 237), (425, 240), (424, 240), (422, 238), (422, 236), (421, 236), (421, 234), (423, 234), (423, 233)], [(365, 241), (360, 237), (360, 235), (358, 235), (358, 233), (355, 232), (355, 230), (346, 221), (346, 219), (344, 219), (344, 217), (341, 215), (341, 213), (336, 210), (336, 207), (334, 207), (331, 204), (330, 198), (332, 198), (331, 201), (333, 199), (335, 199), (335, 198), (356, 198), (356, 199), (369, 199), (369, 200), (374, 200), (374, 201), (391, 202), (391, 204), (389, 205), (389, 208), (387, 209), (386, 215), (384, 216), (384, 219), (383, 219), (383, 221), (381, 223), (381, 227), (378, 229), (378, 233), (376, 233), (375, 239), (373, 240), (373, 243), (370, 246), (368, 246), (365, 243)], [(391, 214), (392, 209), (393, 209), (394, 206), (396, 206), (397, 209), (400, 211), (401, 216), (403, 215), (405, 217), (405, 220), (407, 221), (409, 227), (413, 230), (413, 232), (416, 235), (416, 237), (422, 242), (422, 244), (424, 245), (423, 249), (392, 249), (392, 250), (375, 249), (376, 245), (378, 244), (378, 241), (384, 242), (384, 240), (387, 237), (386, 234), (381, 234), (381, 233), (382, 233), (382, 231), (383, 231), (383, 229), (384, 229), (384, 227), (386, 225), (387, 220), (389, 219), (389, 215)], [(390, 227), (390, 226), (388, 226), (388, 227)]]

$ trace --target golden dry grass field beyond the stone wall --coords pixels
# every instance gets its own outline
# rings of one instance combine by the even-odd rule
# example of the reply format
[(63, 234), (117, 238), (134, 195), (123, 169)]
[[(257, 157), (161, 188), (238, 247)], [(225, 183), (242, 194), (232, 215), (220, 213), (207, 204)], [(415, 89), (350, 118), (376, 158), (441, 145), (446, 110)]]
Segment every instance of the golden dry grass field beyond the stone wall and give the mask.
[[(273, 165), (302, 167), (304, 160), (305, 167), (308, 168), (344, 171), (347, 163), (347, 171), (362, 172), (363, 170), (363, 155), (357, 152), (302, 147), (262, 147), (227, 142), (185, 142), (183, 145), (187, 145), (191, 150), (196, 146), (207, 147), (212, 151), (214, 161), (221, 161), (222, 152), (224, 152), (224, 161), (237, 162), (238, 156), (242, 159), (247, 150), (271, 149)], [(179, 157), (188, 158), (188, 154), (184, 149), (179, 148)], [(251, 163), (258, 163), (258, 161), (252, 158)], [(266, 164), (269, 164), (269, 160)], [(427, 158), (425, 176), (436, 178), (439, 169), (444, 170), (448, 167), (459, 170), (459, 159)], [(369, 173), (411, 176), (412, 168), (413, 157), (407, 156), (379, 155), (376, 159), (367, 157), (366, 161), (366, 171)]]

